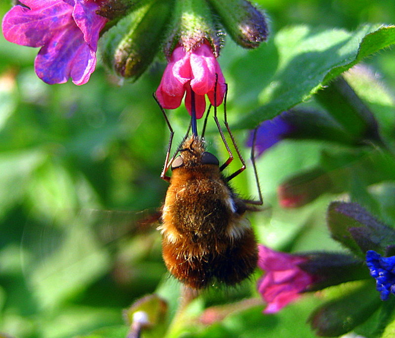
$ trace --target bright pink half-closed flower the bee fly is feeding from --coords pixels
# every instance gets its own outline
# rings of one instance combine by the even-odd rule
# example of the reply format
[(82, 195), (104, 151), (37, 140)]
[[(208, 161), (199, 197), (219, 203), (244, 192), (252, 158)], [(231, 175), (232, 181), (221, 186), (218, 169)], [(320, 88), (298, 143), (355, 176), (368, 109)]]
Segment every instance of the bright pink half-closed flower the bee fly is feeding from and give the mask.
[[(216, 101), (214, 101), (215, 74), (218, 75)], [(174, 49), (156, 96), (163, 108), (175, 109), (181, 104), (185, 91), (187, 92), (185, 106), (190, 114), (192, 113), (191, 91), (195, 93), (198, 119), (203, 116), (206, 108), (205, 94), (213, 105), (220, 105), (224, 99), (225, 78), (207, 41), (190, 51), (185, 51), (183, 46)]]

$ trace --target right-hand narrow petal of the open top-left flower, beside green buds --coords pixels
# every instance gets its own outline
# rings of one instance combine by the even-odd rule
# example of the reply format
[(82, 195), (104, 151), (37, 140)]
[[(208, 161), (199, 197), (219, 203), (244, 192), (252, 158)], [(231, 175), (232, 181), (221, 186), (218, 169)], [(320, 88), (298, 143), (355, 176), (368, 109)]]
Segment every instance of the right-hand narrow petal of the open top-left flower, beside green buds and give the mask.
[(96, 14), (99, 5), (93, 1), (75, 0), (73, 18), (83, 33), (84, 40), (96, 51), (99, 33), (108, 21)]

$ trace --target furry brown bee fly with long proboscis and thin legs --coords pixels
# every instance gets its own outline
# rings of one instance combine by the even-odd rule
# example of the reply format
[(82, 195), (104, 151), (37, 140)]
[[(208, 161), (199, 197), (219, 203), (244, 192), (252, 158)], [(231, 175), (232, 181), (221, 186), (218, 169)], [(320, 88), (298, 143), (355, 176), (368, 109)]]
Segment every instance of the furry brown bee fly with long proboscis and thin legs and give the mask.
[[(204, 121), (202, 137), (197, 135), (195, 98), (192, 92), (192, 135), (184, 138), (175, 155), (169, 160), (173, 130), (160, 106), (170, 130), (164, 168), (161, 178), (170, 183), (162, 206), (161, 224), (162, 255), (169, 272), (193, 289), (212, 285), (215, 281), (235, 285), (247, 278), (258, 260), (257, 243), (244, 213), (257, 210), (253, 205), (262, 204), (255, 162), (251, 150), (259, 201), (243, 200), (230, 187), (229, 181), (245, 169), (226, 119), (228, 130), (242, 167), (226, 177), (222, 171), (233, 160), (232, 152), (222, 132), (214, 104), (214, 120), (228, 150), (229, 158), (220, 167), (217, 157), (205, 149), (203, 136), (210, 108)], [(214, 98), (216, 94), (214, 94)], [(254, 132), (254, 139), (256, 138)], [(179, 156), (178, 153), (180, 153)], [(171, 177), (165, 175), (172, 170)]]

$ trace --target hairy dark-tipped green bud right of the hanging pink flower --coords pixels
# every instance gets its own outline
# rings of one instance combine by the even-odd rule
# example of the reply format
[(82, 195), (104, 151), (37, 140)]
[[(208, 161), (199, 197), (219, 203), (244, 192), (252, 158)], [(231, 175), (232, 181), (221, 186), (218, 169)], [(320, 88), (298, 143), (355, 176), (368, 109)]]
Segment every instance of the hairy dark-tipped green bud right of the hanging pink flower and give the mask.
[(209, 0), (221, 23), (235, 42), (256, 48), (266, 41), (269, 28), (265, 15), (247, 0)]

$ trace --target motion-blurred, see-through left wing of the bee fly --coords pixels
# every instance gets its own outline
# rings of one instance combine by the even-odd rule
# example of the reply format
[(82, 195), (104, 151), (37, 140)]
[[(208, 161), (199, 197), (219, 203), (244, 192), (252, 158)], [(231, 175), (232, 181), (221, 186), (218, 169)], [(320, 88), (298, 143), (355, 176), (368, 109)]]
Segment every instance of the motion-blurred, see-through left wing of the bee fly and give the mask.
[[(40, 305), (54, 306), (119, 270), (119, 253), (139, 234), (150, 250), (158, 235), (147, 220), (155, 222), (156, 215), (84, 209), (63, 210), (56, 221), (45, 224), (32, 218), (24, 228), (21, 258), (26, 282)], [(142, 255), (142, 242), (136, 245), (134, 251)]]

